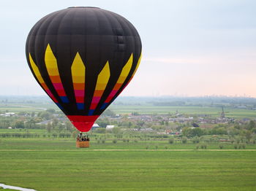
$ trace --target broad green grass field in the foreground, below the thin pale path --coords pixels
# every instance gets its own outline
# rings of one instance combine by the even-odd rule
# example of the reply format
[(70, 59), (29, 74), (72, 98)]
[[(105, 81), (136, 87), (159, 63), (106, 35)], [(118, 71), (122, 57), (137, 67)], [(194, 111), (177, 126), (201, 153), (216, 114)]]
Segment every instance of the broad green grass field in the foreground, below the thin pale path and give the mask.
[(253, 151), (1, 151), (0, 182), (35, 190), (255, 190)]

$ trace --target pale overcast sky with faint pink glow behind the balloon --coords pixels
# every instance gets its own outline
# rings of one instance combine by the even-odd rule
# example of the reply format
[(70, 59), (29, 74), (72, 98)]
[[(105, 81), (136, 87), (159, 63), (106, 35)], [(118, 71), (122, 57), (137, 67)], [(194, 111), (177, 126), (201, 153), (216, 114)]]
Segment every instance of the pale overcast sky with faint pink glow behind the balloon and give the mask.
[(256, 97), (256, 1), (0, 1), (0, 95), (45, 95), (29, 70), (26, 36), (41, 17), (72, 6), (127, 18), (143, 42), (121, 95)]

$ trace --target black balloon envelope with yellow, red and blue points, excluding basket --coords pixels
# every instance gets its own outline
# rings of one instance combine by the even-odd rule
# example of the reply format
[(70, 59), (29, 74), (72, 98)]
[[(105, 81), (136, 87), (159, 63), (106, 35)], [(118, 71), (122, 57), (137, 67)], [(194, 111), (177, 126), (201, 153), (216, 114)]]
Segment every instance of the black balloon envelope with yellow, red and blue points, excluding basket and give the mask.
[(69, 7), (29, 32), (26, 58), (39, 85), (78, 130), (87, 132), (138, 69), (141, 41), (124, 17)]

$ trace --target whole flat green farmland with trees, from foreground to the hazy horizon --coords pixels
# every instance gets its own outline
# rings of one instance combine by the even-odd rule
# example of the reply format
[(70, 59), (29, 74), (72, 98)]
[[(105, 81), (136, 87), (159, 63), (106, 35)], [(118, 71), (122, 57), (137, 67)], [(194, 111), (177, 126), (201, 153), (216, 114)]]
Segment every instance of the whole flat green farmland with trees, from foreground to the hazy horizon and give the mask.
[[(187, 101), (180, 105), (121, 101), (110, 106), (120, 117), (98, 121), (116, 128), (92, 130), (91, 147), (86, 149), (75, 147), (78, 131), (47, 100), (1, 101), (0, 183), (38, 191), (255, 190), (253, 101), (211, 104), (200, 100), (204, 104)], [(221, 106), (225, 106), (227, 122), (214, 120), (219, 119)], [(15, 116), (5, 116), (8, 112)], [(209, 122), (199, 123), (200, 114)], [(194, 117), (191, 122), (167, 122), (189, 116)], [(151, 121), (141, 123), (143, 117)], [(42, 121), (48, 123), (36, 125)], [(200, 128), (201, 134), (185, 136), (193, 122), (200, 125), (195, 130)], [(179, 128), (183, 134), (165, 133)]]

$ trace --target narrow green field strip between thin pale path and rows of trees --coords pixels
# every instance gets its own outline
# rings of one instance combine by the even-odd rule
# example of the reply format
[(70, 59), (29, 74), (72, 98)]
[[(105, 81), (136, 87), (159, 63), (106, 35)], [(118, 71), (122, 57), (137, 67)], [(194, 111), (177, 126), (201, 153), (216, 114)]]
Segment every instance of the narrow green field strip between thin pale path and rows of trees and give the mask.
[[(74, 139), (32, 139), (32, 138), (7, 138), (0, 140), (1, 149), (78, 149)], [(168, 139), (134, 141), (129, 143), (118, 140), (113, 144), (112, 139), (107, 139), (104, 144), (91, 139), (88, 149), (196, 149), (197, 144), (174, 143), (169, 144)], [(201, 143), (200, 143), (201, 144)], [(198, 144), (198, 145), (200, 145)], [(203, 144), (203, 143), (202, 143)], [(222, 143), (223, 149), (234, 149), (234, 144)], [(156, 148), (157, 147), (157, 148)], [(219, 149), (219, 143), (207, 144), (207, 149)], [(255, 144), (246, 144), (245, 149), (256, 149)]]

